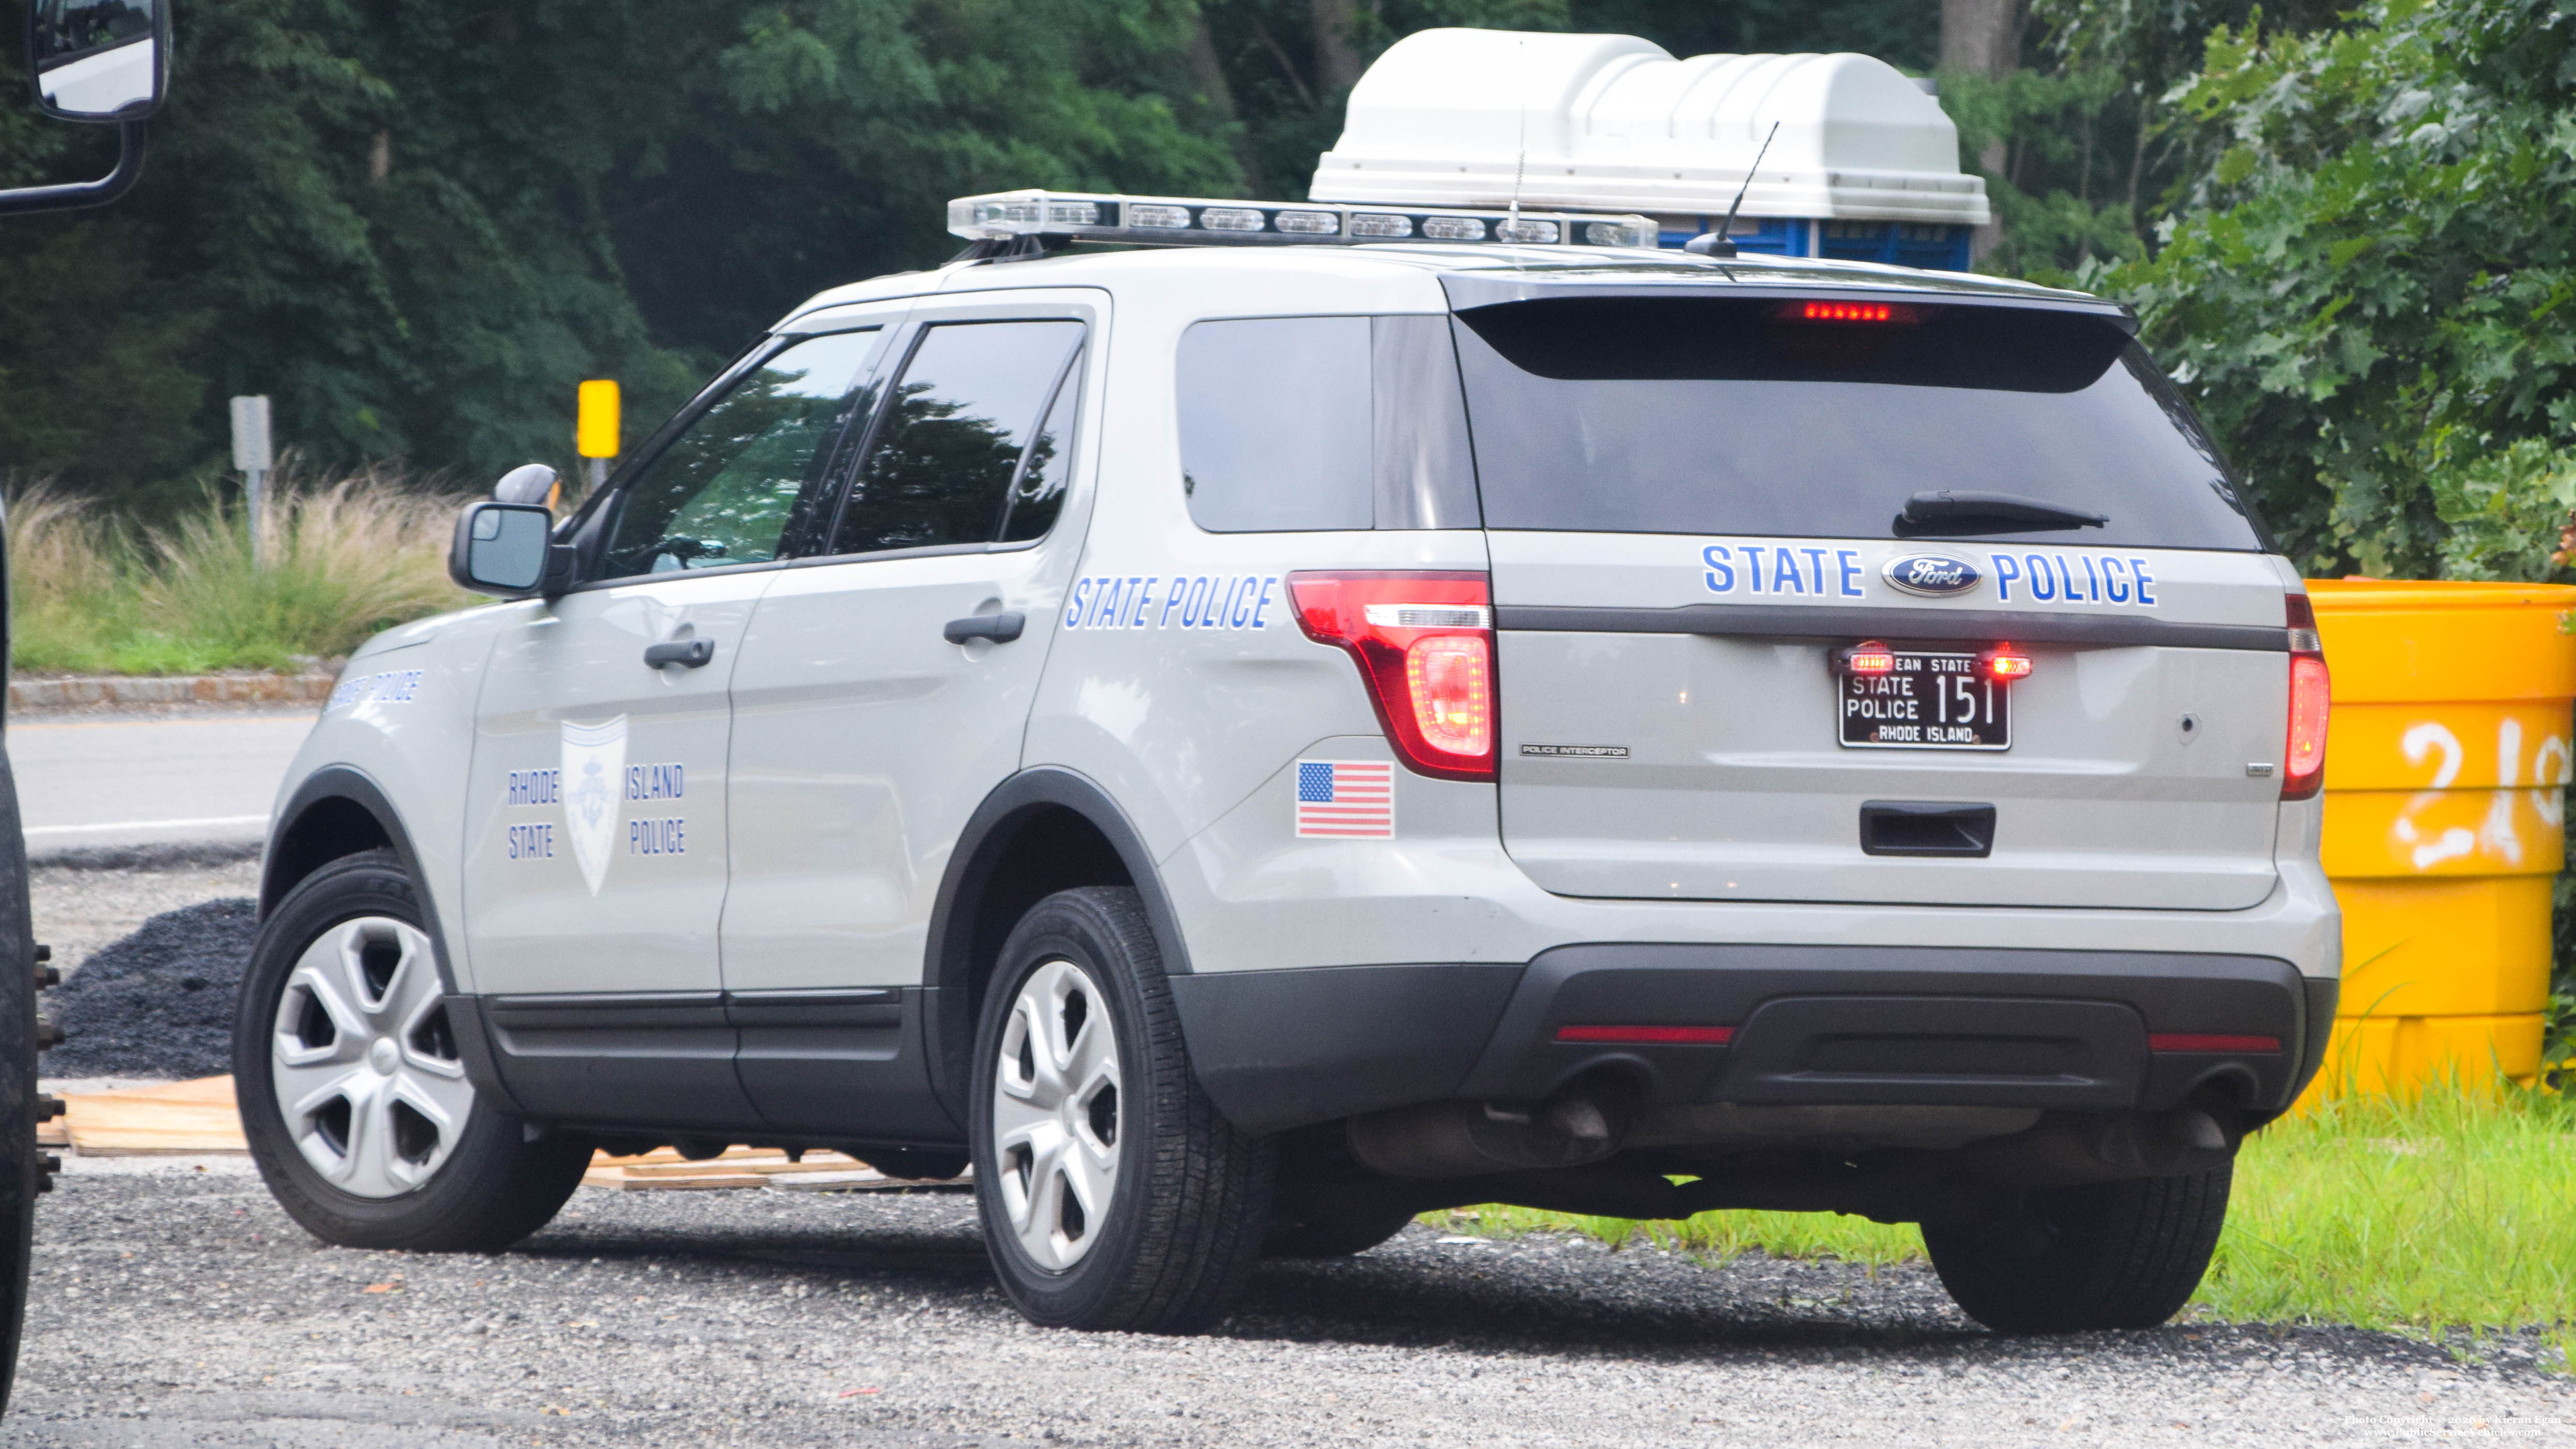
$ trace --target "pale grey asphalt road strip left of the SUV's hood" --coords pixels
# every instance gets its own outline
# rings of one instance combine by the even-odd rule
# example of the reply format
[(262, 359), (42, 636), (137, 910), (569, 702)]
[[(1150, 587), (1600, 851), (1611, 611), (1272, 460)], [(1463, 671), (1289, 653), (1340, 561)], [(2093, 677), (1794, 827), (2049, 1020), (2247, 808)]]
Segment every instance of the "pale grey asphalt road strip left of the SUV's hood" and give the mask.
[(10, 721), (26, 849), (250, 844), (314, 715)]

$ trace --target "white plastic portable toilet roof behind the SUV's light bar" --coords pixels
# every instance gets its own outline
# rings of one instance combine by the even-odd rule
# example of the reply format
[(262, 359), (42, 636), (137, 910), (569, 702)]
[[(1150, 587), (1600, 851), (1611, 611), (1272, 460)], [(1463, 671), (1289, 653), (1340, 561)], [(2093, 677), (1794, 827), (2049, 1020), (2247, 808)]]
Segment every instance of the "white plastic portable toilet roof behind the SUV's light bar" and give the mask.
[(1986, 180), (1914, 80), (1862, 54), (1672, 59), (1636, 36), (1417, 31), (1360, 77), (1316, 201), (1984, 226)]

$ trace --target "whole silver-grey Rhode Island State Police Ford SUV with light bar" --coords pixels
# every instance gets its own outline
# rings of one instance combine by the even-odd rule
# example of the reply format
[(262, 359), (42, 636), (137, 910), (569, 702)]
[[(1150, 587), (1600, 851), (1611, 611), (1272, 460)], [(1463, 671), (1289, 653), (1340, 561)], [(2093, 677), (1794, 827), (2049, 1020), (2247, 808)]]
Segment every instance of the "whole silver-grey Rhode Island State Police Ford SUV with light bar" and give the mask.
[(2184, 1302), (2334, 1019), (2326, 669), (2128, 311), (1615, 216), (953, 224), (348, 664), (237, 1040), (296, 1220), (492, 1251), (592, 1148), (768, 1143), (971, 1168), (1051, 1325), (1473, 1202)]

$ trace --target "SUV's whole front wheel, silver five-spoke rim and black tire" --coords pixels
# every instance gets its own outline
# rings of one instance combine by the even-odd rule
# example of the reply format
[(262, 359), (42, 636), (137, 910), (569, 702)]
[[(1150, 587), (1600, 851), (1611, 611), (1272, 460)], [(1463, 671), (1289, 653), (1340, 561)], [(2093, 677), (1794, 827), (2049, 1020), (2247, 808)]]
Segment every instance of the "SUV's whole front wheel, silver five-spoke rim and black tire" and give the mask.
[(528, 1140), (477, 1096), (420, 896), (381, 849), (312, 872), (263, 921), (232, 1086), (278, 1207), (343, 1248), (507, 1248), (590, 1161), (587, 1140)]

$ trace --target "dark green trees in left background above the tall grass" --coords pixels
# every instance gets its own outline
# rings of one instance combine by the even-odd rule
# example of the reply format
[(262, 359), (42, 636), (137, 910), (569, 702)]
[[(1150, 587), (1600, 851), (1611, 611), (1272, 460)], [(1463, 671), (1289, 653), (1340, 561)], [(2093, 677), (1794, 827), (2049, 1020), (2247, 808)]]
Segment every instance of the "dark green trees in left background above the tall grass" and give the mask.
[[(0, 427), (0, 466), (167, 507), (222, 466), (237, 391), (325, 466), (569, 463), (580, 378), (621, 378), (649, 427), (793, 301), (956, 250), (951, 196), (1231, 185), (1175, 100), (1193, 23), (1188, 0), (196, 0), (142, 188), (0, 232), (8, 306), (59, 322), (0, 329), (0, 414), (44, 420)], [(13, 113), (0, 172), (100, 170), (98, 142)], [(82, 383), (108, 355), (124, 389)]]

